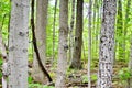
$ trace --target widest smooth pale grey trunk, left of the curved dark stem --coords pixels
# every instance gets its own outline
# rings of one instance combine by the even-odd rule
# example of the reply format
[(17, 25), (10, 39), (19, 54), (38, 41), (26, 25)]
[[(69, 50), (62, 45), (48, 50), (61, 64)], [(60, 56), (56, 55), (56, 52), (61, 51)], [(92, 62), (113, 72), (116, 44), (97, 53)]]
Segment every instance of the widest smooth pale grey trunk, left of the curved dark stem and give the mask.
[(8, 88), (28, 88), (29, 6), (29, 0), (12, 0)]

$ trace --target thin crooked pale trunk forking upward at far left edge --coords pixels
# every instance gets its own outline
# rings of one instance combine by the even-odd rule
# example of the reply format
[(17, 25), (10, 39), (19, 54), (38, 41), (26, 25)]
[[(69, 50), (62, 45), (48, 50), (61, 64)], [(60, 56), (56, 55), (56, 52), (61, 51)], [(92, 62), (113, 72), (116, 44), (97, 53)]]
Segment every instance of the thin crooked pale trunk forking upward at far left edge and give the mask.
[[(9, 33), (9, 29), (10, 29), (10, 13), (9, 12), (9, 21), (8, 21), (8, 33)], [(3, 24), (4, 24), (4, 20), (6, 20), (7, 14), (3, 15), (3, 20), (2, 20), (2, 25), (1, 25), (1, 31), (3, 29)], [(8, 88), (8, 54), (7, 54), (7, 47), (3, 40), (2, 40), (2, 32), (0, 31), (0, 52), (3, 58), (3, 64), (2, 64), (2, 88)], [(8, 44), (9, 44), (9, 35), (8, 35)]]

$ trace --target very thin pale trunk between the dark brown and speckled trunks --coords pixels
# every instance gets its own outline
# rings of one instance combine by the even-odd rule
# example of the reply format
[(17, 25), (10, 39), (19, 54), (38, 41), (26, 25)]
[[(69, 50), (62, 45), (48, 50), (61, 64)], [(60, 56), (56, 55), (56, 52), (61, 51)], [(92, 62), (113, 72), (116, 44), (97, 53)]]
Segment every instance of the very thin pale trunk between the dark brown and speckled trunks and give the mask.
[(90, 80), (90, 62), (91, 62), (91, 6), (92, 2), (89, 0), (89, 10), (88, 10), (88, 88), (91, 88)]

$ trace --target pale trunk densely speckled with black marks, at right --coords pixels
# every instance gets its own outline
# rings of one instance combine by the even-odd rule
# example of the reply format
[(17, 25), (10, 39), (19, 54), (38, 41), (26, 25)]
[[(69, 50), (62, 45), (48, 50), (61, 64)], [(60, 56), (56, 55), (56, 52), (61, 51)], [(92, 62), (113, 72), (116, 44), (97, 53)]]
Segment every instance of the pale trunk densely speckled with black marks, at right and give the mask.
[(112, 88), (116, 12), (117, 1), (103, 0), (97, 88)]

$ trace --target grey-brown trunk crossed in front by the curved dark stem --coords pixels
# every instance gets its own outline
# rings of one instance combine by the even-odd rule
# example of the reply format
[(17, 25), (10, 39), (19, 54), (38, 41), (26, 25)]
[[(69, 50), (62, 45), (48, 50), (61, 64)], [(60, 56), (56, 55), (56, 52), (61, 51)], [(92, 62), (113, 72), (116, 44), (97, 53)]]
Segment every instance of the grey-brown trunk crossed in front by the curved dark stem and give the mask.
[[(46, 61), (46, 24), (47, 24), (47, 6), (48, 0), (36, 0), (36, 28), (35, 28), (35, 36), (37, 48), (40, 53), (41, 62), (43, 66), (45, 66)], [(38, 65), (38, 61), (36, 58), (36, 54), (34, 53), (33, 59), (33, 79), (35, 81), (44, 84), (44, 74)]]

